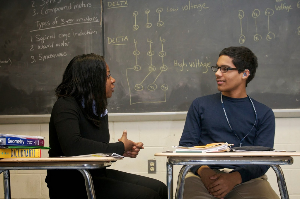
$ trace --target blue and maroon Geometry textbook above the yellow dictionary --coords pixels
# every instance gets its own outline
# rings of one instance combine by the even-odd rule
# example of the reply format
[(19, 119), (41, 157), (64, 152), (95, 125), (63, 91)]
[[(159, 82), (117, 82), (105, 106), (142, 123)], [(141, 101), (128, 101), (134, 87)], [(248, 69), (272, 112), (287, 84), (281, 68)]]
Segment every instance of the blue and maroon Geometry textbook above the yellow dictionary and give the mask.
[(0, 136), (0, 146), (43, 147), (44, 144), (45, 144), (44, 139)]

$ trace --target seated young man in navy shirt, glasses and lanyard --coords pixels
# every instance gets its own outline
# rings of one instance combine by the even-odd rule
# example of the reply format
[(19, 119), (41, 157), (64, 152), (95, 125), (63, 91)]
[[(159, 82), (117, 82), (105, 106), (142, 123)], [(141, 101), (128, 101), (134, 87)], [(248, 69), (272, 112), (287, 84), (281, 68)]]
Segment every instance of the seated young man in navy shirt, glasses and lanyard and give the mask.
[[(220, 93), (195, 99), (187, 113), (179, 146), (215, 142), (273, 147), (275, 117), (271, 108), (250, 98), (257, 57), (244, 46), (225, 48), (211, 67)], [(279, 198), (264, 175), (266, 165), (194, 166), (185, 179), (184, 198)]]

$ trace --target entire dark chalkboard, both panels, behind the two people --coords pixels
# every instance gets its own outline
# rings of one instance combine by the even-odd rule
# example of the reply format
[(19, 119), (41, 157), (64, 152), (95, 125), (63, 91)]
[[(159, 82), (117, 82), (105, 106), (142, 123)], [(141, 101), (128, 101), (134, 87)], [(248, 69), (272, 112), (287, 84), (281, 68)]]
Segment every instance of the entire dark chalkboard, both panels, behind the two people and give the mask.
[(90, 52), (116, 79), (110, 113), (187, 111), (218, 92), (210, 67), (229, 46), (258, 57), (250, 97), (300, 108), (298, 0), (0, 0), (0, 30), (0, 115), (50, 114), (68, 62)]

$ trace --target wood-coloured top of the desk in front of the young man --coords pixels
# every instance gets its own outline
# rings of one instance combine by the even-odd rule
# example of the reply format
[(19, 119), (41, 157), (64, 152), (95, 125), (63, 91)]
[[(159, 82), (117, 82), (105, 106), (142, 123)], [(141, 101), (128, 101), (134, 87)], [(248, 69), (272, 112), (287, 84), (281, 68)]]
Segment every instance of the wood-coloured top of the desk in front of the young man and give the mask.
[(219, 153), (155, 153), (167, 157), (253, 157), (253, 156), (300, 156), (300, 152), (219, 152)]

